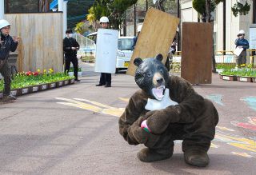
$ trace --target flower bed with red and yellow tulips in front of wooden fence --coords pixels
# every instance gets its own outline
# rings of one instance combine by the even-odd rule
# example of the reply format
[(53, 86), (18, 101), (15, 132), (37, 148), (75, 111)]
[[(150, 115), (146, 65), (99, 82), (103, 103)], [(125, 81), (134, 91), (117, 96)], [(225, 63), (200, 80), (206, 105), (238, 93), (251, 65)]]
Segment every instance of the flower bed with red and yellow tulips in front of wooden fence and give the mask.
[[(14, 96), (23, 95), (26, 93), (34, 93), (46, 89), (54, 89), (64, 85), (74, 83), (74, 77), (70, 77), (63, 73), (53, 73), (53, 70), (40, 73), (36, 72), (22, 72), (14, 76), (11, 83), (11, 93)], [(4, 88), (3, 79), (0, 80), (0, 97), (2, 97), (2, 90)]]

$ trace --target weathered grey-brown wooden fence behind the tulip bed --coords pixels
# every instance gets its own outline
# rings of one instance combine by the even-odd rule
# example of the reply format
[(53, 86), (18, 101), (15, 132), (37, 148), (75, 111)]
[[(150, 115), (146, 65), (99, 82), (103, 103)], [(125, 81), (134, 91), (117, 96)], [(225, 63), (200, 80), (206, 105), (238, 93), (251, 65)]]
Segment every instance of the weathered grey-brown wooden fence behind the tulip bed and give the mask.
[(63, 70), (62, 13), (6, 14), (18, 35), (18, 71)]

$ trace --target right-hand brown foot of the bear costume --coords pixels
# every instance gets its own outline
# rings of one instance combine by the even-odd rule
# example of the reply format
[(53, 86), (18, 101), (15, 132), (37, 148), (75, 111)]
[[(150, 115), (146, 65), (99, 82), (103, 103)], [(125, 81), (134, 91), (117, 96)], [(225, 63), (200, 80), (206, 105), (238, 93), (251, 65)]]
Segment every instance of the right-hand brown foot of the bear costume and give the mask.
[(190, 149), (184, 152), (185, 162), (189, 165), (206, 167), (209, 164), (209, 157), (206, 151), (200, 149)]

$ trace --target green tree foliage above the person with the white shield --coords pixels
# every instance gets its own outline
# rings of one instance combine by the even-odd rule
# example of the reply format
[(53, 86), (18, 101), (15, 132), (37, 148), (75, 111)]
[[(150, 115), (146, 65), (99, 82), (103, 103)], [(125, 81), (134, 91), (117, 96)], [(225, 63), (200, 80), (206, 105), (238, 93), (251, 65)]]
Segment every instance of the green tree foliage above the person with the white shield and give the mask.
[(126, 10), (137, 1), (138, 0), (96, 0), (94, 6), (88, 11), (87, 19), (90, 19), (90, 22), (98, 22), (102, 16), (107, 16), (110, 19), (110, 27), (119, 30), (122, 28)]

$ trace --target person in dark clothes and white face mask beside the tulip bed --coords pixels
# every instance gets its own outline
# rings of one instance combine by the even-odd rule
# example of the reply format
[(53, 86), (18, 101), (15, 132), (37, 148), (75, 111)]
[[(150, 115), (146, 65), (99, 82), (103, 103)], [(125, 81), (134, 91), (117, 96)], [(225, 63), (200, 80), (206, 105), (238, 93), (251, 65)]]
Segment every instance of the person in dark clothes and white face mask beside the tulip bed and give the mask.
[(74, 81), (78, 80), (78, 58), (77, 51), (79, 50), (78, 42), (72, 38), (72, 30), (66, 30), (66, 38), (63, 39), (63, 50), (65, 54), (65, 74), (70, 71), (70, 62), (74, 66)]

